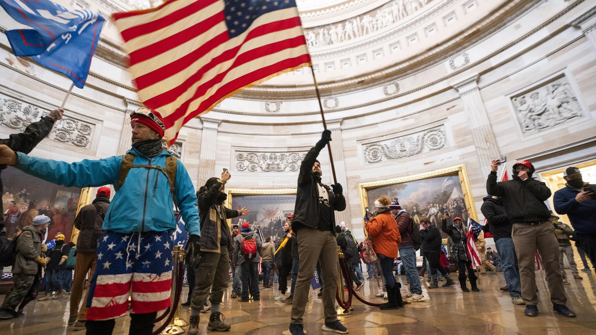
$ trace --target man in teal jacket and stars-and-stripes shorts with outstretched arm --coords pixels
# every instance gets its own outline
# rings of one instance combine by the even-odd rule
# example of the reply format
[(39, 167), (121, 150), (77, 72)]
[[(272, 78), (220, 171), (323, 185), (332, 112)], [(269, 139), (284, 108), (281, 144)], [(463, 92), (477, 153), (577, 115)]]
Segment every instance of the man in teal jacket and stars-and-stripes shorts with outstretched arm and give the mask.
[[(105, 233), (97, 246), (97, 268), (89, 286), (88, 335), (112, 333), (114, 318), (128, 310), (131, 288), (129, 334), (151, 334), (157, 311), (170, 305), (174, 202), (190, 234), (189, 242), (200, 242), (193, 182), (182, 162), (163, 151), (162, 120), (142, 108), (132, 113), (131, 127), (133, 144), (126, 158), (134, 161), (128, 166), (123, 164), (123, 156), (69, 164), (30, 157), (0, 145), (0, 164), (67, 187), (113, 184), (117, 189), (105, 213)], [(128, 168), (123, 183), (121, 165)], [(175, 187), (170, 189), (173, 176)]]

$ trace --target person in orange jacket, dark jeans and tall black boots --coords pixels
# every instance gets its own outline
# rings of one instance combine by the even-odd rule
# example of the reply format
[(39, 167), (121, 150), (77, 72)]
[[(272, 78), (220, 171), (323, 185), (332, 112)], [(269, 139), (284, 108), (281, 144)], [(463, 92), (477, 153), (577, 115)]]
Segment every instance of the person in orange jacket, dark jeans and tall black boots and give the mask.
[(398, 309), (405, 306), (399, 291), (401, 284), (393, 275), (393, 259), (398, 256), (398, 246), (402, 237), (399, 234), (398, 223), (391, 216), (390, 204), (389, 197), (381, 196), (374, 202), (377, 207), (377, 216), (371, 220), (368, 215), (364, 217), (365, 228), (368, 236), (373, 239), (373, 249), (379, 258), (389, 296), (388, 302), (380, 306), (381, 309)]

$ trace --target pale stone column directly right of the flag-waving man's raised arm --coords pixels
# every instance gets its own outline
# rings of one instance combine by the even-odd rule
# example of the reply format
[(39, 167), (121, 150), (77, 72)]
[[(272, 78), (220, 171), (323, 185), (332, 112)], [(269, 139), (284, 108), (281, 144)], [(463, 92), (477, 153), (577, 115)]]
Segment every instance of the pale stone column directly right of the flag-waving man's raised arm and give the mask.
[[(331, 155), (333, 155), (333, 165), (336, 170), (337, 182), (343, 186), (343, 195), (346, 197), (346, 204), (348, 203), (347, 198), (347, 179), (346, 179), (346, 164), (343, 159), (343, 142), (342, 142), (342, 120), (336, 118), (334, 120), (327, 120), (327, 129), (331, 130)], [(331, 171), (329, 171), (331, 173)], [(344, 221), (348, 228), (350, 227), (350, 210), (349, 206), (346, 205), (346, 210), (342, 212), (336, 212), (336, 224), (340, 224)]]

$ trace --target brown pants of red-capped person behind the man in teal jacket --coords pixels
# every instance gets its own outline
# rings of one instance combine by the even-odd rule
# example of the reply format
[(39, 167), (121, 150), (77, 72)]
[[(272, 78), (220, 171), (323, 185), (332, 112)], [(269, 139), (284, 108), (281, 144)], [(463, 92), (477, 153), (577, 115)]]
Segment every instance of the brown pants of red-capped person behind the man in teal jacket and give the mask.
[(80, 298), (83, 296), (83, 287), (85, 287), (87, 273), (91, 271), (89, 274), (89, 281), (91, 281), (91, 278), (93, 277), (93, 273), (95, 272), (95, 261), (95, 252), (77, 252), (76, 254), (75, 275), (73, 277), (73, 284), (70, 291), (71, 318), (76, 317), (78, 314), (78, 320), (85, 320), (85, 313), (89, 309), (87, 308), (87, 293), (89, 293), (89, 290), (86, 290), (85, 292), (83, 306), (81, 306), (79, 311)]

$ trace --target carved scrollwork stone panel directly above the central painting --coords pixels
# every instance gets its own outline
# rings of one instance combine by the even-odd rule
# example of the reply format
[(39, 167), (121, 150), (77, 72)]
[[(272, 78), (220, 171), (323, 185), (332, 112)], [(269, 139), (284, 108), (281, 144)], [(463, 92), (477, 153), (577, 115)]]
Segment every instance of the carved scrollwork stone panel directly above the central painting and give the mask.
[(301, 152), (238, 152), (237, 171), (296, 172), (306, 153)]

